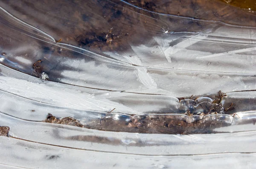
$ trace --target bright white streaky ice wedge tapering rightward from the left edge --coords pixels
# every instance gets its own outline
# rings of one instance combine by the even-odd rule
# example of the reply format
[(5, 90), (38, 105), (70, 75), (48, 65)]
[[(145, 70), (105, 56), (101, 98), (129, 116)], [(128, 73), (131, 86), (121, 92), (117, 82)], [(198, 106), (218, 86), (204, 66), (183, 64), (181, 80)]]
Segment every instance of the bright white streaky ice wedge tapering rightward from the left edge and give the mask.
[[(18, 85), (18, 84), (24, 84), (24, 82), (25, 82), (25, 85)], [(14, 85), (14, 84), (17, 84), (17, 85)], [(47, 99), (47, 103), (49, 101), (52, 101), (54, 103), (52, 105), (59, 105), (59, 106), (74, 108), (78, 110), (97, 110), (97, 111), (105, 111), (105, 112), (107, 112), (112, 107), (116, 107), (116, 109), (118, 109), (121, 112), (127, 111), (127, 112), (137, 113), (137, 114), (140, 113), (140, 111), (134, 108), (127, 107), (123, 104), (120, 104), (114, 101), (110, 101), (101, 96), (93, 96), (88, 93), (81, 94), (79, 92), (72, 91), (70, 89), (59, 88), (57, 90), (45, 84), (35, 84), (35, 83), (27, 84), (25, 80), (7, 78), (6, 84), (2, 83), (1, 85), (2, 89), (0, 89), (0, 91), (4, 92), (6, 90), (9, 90), (7, 86), (15, 86), (15, 88), (12, 88), (12, 94), (14, 95), (17, 95), (26, 99), (31, 98), (30, 100), (34, 99), (34, 100), (37, 100), (38, 102), (41, 102)], [(29, 87), (30, 88), (29, 90), (35, 91), (37, 93), (31, 92), (28, 90), (23, 90), (24, 88), (26, 89), (26, 87)], [(6, 91), (6, 92), (10, 93), (9, 91)], [(58, 93), (62, 93), (62, 96), (59, 96)], [(22, 95), (25, 95), (26, 97), (23, 97)]]

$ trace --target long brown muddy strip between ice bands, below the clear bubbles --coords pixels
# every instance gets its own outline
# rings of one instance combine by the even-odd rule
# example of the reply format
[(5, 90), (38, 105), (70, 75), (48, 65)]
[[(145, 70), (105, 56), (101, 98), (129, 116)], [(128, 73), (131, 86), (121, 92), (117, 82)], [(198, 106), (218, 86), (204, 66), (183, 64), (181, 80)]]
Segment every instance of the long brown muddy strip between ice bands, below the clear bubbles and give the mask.
[[(108, 117), (108, 115), (110, 117)], [(106, 113), (105, 118), (98, 118), (86, 125), (82, 125), (78, 120), (71, 117), (56, 118), (48, 114), (42, 122), (65, 124), (75, 127), (84, 127), (88, 129), (115, 131), (115, 132), (138, 132), (138, 133), (162, 133), (162, 134), (202, 134), (215, 133), (214, 129), (230, 126), (226, 121), (227, 117), (215, 116), (204, 119), (202, 116), (195, 115), (188, 117), (186, 115), (127, 115), (130, 120), (111, 118), (112, 113)]]

